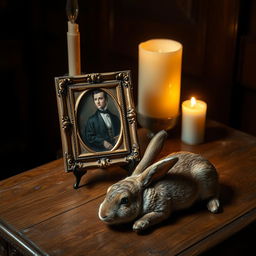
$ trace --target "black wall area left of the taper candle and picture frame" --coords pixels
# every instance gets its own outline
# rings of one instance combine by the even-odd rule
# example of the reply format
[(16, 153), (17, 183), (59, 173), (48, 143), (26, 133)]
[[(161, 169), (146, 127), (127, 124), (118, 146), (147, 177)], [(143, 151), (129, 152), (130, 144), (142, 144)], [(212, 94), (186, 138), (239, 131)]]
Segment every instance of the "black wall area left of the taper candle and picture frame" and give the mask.
[(63, 1), (1, 1), (1, 177), (56, 158), (54, 76), (66, 73)]

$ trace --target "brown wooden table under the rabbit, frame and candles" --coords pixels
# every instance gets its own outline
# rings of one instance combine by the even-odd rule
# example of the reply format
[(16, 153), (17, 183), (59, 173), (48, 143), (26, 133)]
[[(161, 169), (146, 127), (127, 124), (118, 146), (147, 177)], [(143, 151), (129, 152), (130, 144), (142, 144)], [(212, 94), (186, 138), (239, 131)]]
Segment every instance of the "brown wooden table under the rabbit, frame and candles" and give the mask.
[[(144, 151), (145, 130), (139, 131), (139, 138)], [(253, 222), (256, 138), (216, 122), (208, 123), (204, 144), (188, 146), (179, 138), (171, 132), (159, 157), (186, 150), (212, 161), (220, 175), (221, 213), (211, 214), (198, 204), (142, 235), (134, 233), (131, 225), (110, 228), (98, 219), (98, 207), (107, 187), (127, 173), (120, 167), (91, 170), (82, 179), (86, 185), (74, 190), (74, 177), (64, 172), (60, 159), (0, 182), (0, 252), (197, 255)]]

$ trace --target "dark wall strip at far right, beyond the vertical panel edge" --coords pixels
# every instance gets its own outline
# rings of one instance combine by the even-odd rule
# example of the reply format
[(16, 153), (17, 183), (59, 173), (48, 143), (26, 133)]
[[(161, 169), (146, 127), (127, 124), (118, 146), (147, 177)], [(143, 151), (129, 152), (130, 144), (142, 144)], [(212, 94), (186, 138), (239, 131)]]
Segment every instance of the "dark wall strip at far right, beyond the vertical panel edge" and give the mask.
[(256, 1), (241, 1), (231, 125), (256, 135)]

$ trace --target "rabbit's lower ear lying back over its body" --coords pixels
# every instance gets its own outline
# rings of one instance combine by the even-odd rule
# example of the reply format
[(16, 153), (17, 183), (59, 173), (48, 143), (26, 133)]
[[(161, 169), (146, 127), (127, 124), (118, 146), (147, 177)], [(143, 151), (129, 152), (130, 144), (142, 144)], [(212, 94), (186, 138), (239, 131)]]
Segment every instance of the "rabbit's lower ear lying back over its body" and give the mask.
[(178, 162), (178, 157), (165, 158), (159, 162), (149, 166), (138, 177), (143, 187), (147, 187), (150, 183), (163, 178), (167, 172)]

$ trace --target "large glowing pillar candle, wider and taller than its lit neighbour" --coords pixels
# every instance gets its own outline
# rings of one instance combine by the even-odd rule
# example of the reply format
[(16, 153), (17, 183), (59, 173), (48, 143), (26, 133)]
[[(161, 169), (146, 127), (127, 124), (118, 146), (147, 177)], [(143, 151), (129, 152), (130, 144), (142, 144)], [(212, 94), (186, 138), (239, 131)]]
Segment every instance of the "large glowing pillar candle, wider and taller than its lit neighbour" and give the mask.
[(150, 118), (179, 114), (182, 45), (169, 39), (139, 44), (138, 112)]

